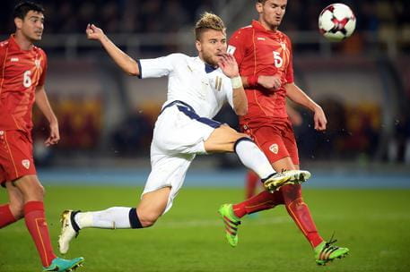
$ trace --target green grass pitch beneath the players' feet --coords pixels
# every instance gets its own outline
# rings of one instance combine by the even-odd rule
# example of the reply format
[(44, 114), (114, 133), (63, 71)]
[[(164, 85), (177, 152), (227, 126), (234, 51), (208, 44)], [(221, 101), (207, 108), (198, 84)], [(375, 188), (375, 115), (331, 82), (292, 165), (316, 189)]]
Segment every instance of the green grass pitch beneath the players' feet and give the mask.
[[(135, 206), (142, 188), (47, 187), (48, 225), (57, 251), (59, 214), (65, 208), (99, 210)], [(225, 241), (220, 204), (243, 191), (183, 188), (174, 207), (144, 230), (85, 229), (65, 258), (83, 256), (84, 272), (199, 271), (410, 271), (409, 190), (305, 190), (320, 234), (336, 231), (346, 259), (315, 264), (310, 245), (283, 206), (246, 218), (240, 242)], [(6, 201), (0, 192), (0, 203)], [(24, 221), (0, 230), (0, 271), (40, 271)]]

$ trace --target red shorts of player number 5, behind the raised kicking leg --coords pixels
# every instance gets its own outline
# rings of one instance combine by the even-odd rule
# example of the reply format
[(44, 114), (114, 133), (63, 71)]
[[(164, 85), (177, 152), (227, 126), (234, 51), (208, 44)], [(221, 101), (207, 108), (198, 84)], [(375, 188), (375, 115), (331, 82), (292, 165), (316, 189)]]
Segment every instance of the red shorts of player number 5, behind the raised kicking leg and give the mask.
[(241, 128), (255, 140), (271, 164), (281, 158), (291, 157), (293, 165), (299, 165), (298, 146), (292, 123), (288, 119), (269, 123), (242, 123)]

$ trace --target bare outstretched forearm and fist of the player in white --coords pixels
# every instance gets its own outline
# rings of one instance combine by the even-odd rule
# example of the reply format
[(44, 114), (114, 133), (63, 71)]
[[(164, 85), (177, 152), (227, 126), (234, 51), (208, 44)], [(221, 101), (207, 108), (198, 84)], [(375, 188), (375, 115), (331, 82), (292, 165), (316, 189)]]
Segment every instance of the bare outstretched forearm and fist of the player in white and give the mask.
[(104, 47), (107, 53), (109, 53), (109, 56), (124, 72), (128, 75), (140, 75), (140, 71), (135, 60), (119, 49), (101, 29), (93, 24), (88, 24), (85, 33), (87, 34), (88, 39), (99, 40), (102, 47)]

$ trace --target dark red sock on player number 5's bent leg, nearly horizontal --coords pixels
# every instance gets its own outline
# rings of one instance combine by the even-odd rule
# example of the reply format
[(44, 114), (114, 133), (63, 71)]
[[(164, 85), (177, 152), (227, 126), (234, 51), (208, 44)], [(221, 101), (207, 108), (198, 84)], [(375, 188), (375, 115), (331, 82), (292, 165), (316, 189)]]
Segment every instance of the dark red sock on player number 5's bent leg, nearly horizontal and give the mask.
[(235, 204), (232, 206), (233, 213), (237, 217), (243, 217), (251, 213), (265, 210), (268, 208), (274, 208), (276, 205), (284, 204), (282, 199), (282, 193), (280, 191), (275, 191), (275, 193), (270, 193), (268, 191), (262, 191), (256, 196)]

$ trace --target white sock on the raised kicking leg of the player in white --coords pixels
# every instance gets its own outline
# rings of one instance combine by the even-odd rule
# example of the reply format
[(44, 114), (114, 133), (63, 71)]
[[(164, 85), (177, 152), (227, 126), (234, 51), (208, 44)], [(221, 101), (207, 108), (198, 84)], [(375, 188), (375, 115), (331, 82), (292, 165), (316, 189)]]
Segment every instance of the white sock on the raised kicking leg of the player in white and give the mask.
[(276, 173), (265, 154), (253, 140), (241, 138), (235, 143), (234, 151), (240, 157), (242, 164), (253, 170), (261, 179)]

